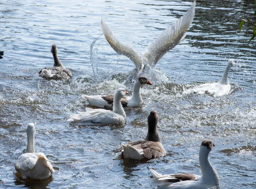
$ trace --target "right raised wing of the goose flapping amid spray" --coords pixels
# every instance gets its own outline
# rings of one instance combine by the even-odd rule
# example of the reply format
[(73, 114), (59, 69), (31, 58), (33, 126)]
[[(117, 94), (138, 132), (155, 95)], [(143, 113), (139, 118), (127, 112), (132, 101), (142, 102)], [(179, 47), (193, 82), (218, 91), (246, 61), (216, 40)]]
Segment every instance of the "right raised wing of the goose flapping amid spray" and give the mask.
[(165, 29), (145, 50), (143, 59), (145, 63), (154, 67), (166, 52), (174, 48), (186, 37), (186, 31), (195, 15), (195, 1), (189, 10), (171, 27)]

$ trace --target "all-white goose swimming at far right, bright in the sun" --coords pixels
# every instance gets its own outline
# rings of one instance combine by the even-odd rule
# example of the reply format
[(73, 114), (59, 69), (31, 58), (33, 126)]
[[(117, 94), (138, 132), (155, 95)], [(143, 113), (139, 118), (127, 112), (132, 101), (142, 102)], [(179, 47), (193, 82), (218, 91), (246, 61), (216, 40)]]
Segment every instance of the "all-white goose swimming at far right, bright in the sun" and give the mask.
[(191, 93), (198, 93), (198, 94), (211, 94), (214, 97), (223, 96), (225, 94), (229, 94), (231, 90), (230, 83), (228, 81), (228, 73), (232, 66), (236, 66), (235, 60), (230, 59), (227, 62), (226, 70), (221, 77), (221, 80), (216, 83), (204, 83), (199, 86), (195, 86), (192, 89), (188, 89), (183, 92), (183, 94), (191, 94)]

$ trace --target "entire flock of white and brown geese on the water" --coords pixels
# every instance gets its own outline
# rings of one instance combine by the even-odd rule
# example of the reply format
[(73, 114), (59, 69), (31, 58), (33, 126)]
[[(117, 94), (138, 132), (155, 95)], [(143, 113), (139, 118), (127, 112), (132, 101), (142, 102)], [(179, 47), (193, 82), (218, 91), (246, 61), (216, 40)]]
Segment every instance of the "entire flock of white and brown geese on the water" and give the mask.
[[(123, 107), (138, 107), (143, 105), (140, 89), (152, 83), (145, 77), (150, 69), (154, 69), (157, 61), (175, 47), (186, 37), (186, 31), (192, 22), (195, 14), (195, 1), (186, 14), (180, 17), (177, 22), (163, 31), (140, 56), (131, 47), (124, 45), (117, 40), (106, 23), (101, 20), (102, 31), (110, 46), (119, 54), (123, 54), (131, 59), (135, 64), (135, 69), (129, 79), (135, 80), (131, 97), (125, 96), (128, 92), (123, 88), (116, 90), (115, 94), (106, 95), (82, 95), (91, 106), (97, 109), (86, 108), (85, 112), (69, 114), (74, 125), (122, 125), (126, 121), (126, 114)], [(72, 77), (72, 73), (58, 59), (57, 46), (52, 45), (51, 49), (54, 65), (52, 68), (44, 68), (39, 72), (39, 76), (45, 79), (63, 80)], [(206, 83), (188, 89), (183, 94), (198, 93), (221, 96), (230, 93), (230, 83), (228, 73), (231, 66), (235, 66), (234, 60), (229, 60), (227, 68), (221, 80), (217, 83)], [(161, 143), (160, 135), (157, 132), (158, 115), (157, 111), (151, 111), (148, 115), (148, 133), (144, 140), (133, 141), (123, 144), (116, 153), (121, 152), (123, 158), (136, 160), (164, 157), (166, 151)], [(55, 170), (52, 168), (51, 160), (41, 153), (35, 153), (34, 133), (35, 126), (29, 123), (27, 130), (26, 153), (20, 155), (15, 163), (15, 169), (20, 177), (28, 179), (46, 179), (52, 176)], [(210, 140), (204, 140), (199, 149), (199, 163), (202, 175), (193, 174), (171, 174), (161, 175), (151, 169), (154, 178), (166, 188), (175, 189), (219, 189), (218, 173), (208, 160), (209, 152), (215, 146)]]

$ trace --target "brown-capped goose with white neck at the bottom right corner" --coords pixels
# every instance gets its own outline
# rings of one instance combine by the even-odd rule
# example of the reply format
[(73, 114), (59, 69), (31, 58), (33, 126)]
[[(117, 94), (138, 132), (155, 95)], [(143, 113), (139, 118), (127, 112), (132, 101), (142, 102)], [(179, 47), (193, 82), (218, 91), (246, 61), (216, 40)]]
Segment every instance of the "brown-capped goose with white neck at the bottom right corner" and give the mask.
[[(202, 175), (194, 174), (172, 174), (172, 175), (161, 175), (150, 169), (153, 177), (162, 182), (165, 188), (172, 189), (220, 189), (220, 182), (217, 171), (212, 167), (212, 164), (209, 162), (208, 156), (212, 150), (212, 147), (215, 146), (211, 140), (204, 140), (201, 143), (199, 149), (199, 164), (201, 168)], [(166, 183), (166, 182), (171, 182)]]

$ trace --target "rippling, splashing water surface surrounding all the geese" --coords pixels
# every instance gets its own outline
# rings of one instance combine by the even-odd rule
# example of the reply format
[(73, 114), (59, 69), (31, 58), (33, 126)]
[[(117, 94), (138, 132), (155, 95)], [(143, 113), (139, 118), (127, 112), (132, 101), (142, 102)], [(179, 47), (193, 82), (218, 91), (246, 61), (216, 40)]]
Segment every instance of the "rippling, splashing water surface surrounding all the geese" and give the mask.
[[(249, 25), (238, 31), (242, 14), (253, 15), (251, 1), (197, 2), (186, 39), (157, 63), (168, 81), (160, 77), (142, 89), (145, 106), (125, 109), (126, 125), (71, 126), (67, 121), (66, 113), (85, 109), (81, 94), (127, 88), (125, 79), (134, 68), (106, 42), (101, 17), (119, 41), (143, 52), (191, 3), (1, 1), (0, 188), (157, 188), (149, 168), (200, 174), (199, 145), (208, 138), (216, 145), (210, 161), (221, 188), (255, 188), (256, 51), (254, 41), (247, 44)], [(70, 80), (38, 77), (38, 71), (53, 65), (52, 44), (73, 73)], [(229, 58), (239, 61), (230, 71), (232, 94), (182, 95), (192, 86), (218, 81)], [(166, 157), (121, 160), (113, 150), (145, 138), (151, 110), (159, 113)], [(14, 163), (26, 148), (30, 122), (36, 123), (36, 151), (54, 161), (56, 172), (52, 179), (25, 183), (15, 177)]]

